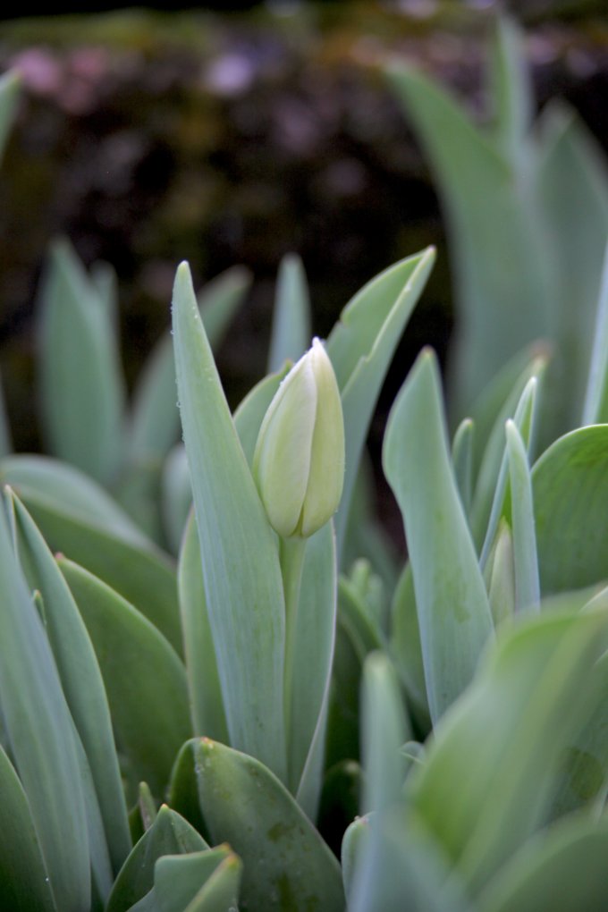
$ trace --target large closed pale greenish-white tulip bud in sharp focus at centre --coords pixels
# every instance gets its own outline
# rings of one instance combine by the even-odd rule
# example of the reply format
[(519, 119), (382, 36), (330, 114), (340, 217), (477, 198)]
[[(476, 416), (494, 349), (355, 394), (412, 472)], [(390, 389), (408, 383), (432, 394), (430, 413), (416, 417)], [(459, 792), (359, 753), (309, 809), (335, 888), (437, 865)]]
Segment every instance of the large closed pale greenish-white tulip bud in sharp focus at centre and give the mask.
[(314, 338), (277, 389), (255, 444), (253, 476), (273, 529), (306, 538), (325, 525), (340, 503), (344, 463), (340, 391)]

